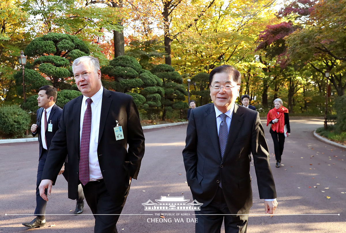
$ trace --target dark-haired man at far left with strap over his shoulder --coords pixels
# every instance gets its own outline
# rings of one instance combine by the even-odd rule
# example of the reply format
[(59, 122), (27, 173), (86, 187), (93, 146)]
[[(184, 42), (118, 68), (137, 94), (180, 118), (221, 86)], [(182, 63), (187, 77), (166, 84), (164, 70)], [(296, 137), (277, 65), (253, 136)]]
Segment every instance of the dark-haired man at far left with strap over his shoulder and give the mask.
[[(62, 109), (56, 102), (57, 91), (53, 86), (45, 85), (39, 89), (37, 102), (40, 107), (36, 112), (36, 124), (31, 125), (33, 136), (38, 135), (39, 157), (36, 180), (36, 209), (34, 215), (37, 217), (29, 222), (23, 223), (29, 228), (36, 228), (46, 224), (45, 214), (47, 202), (42, 199), (38, 186), (41, 182), (43, 167), (47, 159), (47, 151), (51, 146), (52, 138), (59, 129), (60, 116)], [(58, 167), (60, 170), (61, 166)]]

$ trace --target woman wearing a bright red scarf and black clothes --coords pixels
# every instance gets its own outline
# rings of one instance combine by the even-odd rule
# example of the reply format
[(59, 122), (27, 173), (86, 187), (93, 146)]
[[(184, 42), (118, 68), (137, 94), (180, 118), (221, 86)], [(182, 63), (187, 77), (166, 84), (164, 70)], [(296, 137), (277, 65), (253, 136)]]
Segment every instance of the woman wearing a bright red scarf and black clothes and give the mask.
[[(282, 106), (282, 100), (277, 98), (274, 100), (275, 108), (269, 110), (267, 114), (267, 126), (272, 124), (269, 132), (272, 135), (274, 142), (274, 152), (276, 159), (276, 168), (280, 168), (281, 155), (283, 152), (283, 145), (285, 143), (285, 136), (291, 133), (290, 119), (288, 118), (288, 109)], [(284, 135), (284, 127), (287, 127), (286, 135)]]

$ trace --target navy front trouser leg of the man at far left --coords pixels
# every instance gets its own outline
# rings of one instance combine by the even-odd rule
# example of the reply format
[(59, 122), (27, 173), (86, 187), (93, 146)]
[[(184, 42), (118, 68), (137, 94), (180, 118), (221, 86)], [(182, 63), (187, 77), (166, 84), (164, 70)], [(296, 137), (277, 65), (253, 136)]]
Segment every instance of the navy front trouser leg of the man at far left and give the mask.
[[(38, 168), (37, 168), (36, 209), (34, 213), (34, 215), (36, 216), (44, 216), (46, 214), (47, 202), (42, 199), (42, 197), (40, 196), (40, 191), (38, 189), (38, 186), (41, 183), (42, 172), (43, 172), (46, 159), (47, 159), (47, 150), (42, 148), (42, 155), (41, 155), (41, 158), (38, 160)], [(47, 189), (45, 191), (45, 194), (47, 195)]]

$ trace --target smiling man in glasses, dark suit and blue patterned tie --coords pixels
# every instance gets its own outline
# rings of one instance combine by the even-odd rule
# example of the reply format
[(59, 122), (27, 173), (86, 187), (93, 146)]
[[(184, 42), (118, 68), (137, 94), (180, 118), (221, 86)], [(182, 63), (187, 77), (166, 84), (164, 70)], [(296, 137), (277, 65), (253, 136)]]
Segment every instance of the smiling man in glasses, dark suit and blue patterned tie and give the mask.
[(213, 103), (191, 111), (183, 159), (192, 196), (203, 203), (195, 211), (195, 231), (246, 232), (252, 206), (249, 153), (254, 157), (260, 198), (265, 213), (277, 206), (269, 152), (258, 112), (235, 104), (241, 76), (230, 65), (209, 76)]

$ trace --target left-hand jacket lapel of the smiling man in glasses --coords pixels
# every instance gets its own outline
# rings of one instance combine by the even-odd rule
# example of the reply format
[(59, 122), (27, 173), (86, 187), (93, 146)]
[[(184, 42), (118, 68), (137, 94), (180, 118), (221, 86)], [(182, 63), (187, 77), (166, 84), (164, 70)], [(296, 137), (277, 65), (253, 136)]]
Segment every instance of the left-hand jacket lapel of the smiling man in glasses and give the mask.
[(210, 141), (212, 146), (214, 147), (218, 158), (221, 161), (221, 152), (220, 152), (220, 145), (219, 145), (219, 136), (217, 134), (217, 126), (216, 126), (216, 115), (215, 115), (215, 108), (214, 104), (210, 104), (210, 108), (207, 109), (205, 114), (205, 120), (206, 125), (208, 129), (208, 134), (210, 136)]

